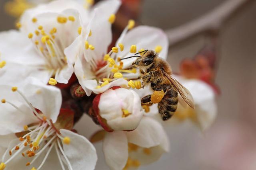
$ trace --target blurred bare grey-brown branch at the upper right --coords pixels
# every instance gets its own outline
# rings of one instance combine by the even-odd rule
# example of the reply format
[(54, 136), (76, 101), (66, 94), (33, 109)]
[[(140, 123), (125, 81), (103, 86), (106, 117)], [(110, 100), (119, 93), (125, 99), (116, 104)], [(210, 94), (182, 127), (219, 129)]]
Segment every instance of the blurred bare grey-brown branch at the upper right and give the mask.
[(166, 31), (169, 44), (174, 45), (202, 31), (217, 31), (228, 17), (249, 0), (227, 0), (208, 14)]

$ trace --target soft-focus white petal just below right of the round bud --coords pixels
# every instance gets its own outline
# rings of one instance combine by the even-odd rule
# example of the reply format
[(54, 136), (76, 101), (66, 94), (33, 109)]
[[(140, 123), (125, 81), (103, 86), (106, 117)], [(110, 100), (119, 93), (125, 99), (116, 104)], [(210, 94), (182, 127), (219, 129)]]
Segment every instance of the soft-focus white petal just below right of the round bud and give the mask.
[(128, 141), (140, 147), (155, 147), (162, 143), (166, 134), (162, 125), (151, 117), (144, 116), (134, 131), (126, 132)]

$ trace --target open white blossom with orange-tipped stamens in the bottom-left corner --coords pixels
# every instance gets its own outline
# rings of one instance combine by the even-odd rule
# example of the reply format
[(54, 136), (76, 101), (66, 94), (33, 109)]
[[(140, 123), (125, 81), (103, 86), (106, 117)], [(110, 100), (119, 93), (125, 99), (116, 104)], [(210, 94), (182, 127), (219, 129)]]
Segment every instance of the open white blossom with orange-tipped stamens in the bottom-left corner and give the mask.
[(9, 141), (1, 170), (94, 169), (96, 150), (85, 137), (70, 131), (74, 113), (60, 109), (58, 88), (28, 79), (21, 90), (7, 85), (0, 89), (0, 135), (20, 136)]

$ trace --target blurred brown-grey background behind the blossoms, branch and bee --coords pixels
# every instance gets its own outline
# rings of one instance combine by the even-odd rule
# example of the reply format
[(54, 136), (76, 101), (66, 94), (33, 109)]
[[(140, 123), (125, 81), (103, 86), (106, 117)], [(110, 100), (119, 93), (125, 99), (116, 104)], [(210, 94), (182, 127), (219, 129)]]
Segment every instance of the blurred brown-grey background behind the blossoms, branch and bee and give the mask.
[[(13, 14), (5, 12), (7, 1), (0, 0), (0, 31), (15, 29), (18, 21), (17, 10)], [(125, 6), (120, 9), (114, 30), (118, 34), (127, 23), (126, 18), (134, 18), (136, 23), (167, 31), (208, 14), (226, 1), (124, 0)], [(207, 45), (214, 46), (214, 84), (220, 89), (220, 94), (216, 95), (218, 115), (212, 127), (203, 134), (189, 121), (166, 128), (170, 138), (170, 153), (163, 155), (158, 162), (140, 169), (256, 170), (255, 16), (256, 1), (247, 0), (218, 27), (220, 29), (201, 31), (170, 45), (168, 62), (177, 73), (184, 59), (193, 58)], [(87, 118), (87, 115), (82, 117)], [(97, 128), (92, 121), (86, 125), (82, 121), (76, 125), (78, 131), (85, 129), (84, 126), (88, 129)], [(91, 135), (84, 131), (82, 133), (86, 137)], [(99, 150), (96, 170), (108, 169), (100, 151), (101, 144), (96, 144), (96, 148)]]

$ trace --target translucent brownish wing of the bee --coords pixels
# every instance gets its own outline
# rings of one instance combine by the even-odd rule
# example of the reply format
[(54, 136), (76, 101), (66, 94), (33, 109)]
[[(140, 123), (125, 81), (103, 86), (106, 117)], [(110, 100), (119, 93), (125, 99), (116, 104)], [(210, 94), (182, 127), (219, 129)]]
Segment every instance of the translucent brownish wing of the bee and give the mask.
[(176, 88), (176, 90), (179, 92), (180, 96), (183, 98), (183, 100), (194, 109), (194, 100), (188, 89), (186, 89), (184, 86), (182, 86), (178, 80), (175, 78), (172, 78), (168, 73), (164, 72), (164, 75), (168, 80), (171, 82), (172, 86)]

